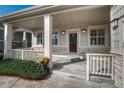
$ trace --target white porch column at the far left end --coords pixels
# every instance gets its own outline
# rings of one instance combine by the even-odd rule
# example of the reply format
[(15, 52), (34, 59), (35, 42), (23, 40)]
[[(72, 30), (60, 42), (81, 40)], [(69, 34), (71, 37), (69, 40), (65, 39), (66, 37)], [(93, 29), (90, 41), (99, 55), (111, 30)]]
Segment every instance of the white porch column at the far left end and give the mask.
[(4, 58), (7, 58), (7, 50), (12, 49), (12, 24), (4, 23)]

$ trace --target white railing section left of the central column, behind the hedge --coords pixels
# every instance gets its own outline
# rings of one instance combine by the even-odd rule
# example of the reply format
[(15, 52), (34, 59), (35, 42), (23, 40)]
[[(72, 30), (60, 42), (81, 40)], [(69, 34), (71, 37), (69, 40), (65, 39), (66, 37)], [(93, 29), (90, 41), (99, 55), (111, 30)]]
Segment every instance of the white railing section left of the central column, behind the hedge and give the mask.
[(8, 50), (7, 53), (7, 58), (32, 60), (32, 61), (36, 61), (37, 57), (39, 56), (44, 56), (44, 53), (37, 50), (21, 50), (21, 49), (11, 49)]

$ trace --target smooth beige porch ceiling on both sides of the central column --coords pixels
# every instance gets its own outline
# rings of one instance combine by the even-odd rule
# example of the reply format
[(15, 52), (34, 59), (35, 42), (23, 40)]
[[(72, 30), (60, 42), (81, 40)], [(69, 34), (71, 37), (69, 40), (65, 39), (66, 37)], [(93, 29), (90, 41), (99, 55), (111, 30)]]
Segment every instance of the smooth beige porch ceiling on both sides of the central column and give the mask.
[[(87, 8), (76, 11), (53, 14), (53, 28), (83, 27), (92, 24), (106, 24), (110, 21), (110, 6)], [(36, 17), (13, 22), (14, 25), (29, 28), (43, 29), (43, 17)]]

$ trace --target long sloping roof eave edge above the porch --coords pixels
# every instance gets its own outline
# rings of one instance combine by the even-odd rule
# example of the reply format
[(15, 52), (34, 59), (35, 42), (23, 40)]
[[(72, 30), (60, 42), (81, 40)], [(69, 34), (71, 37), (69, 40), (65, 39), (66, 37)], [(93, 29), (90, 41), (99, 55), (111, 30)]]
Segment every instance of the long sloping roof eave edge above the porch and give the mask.
[(34, 16), (42, 16), (45, 14), (56, 14), (62, 13), (62, 11), (70, 11), (77, 9), (86, 9), (86, 8), (98, 8), (104, 7), (103, 5), (42, 5), (42, 6), (33, 6), (31, 8), (23, 9), (12, 14), (0, 16), (1, 22), (11, 22), (19, 19), (30, 18)]

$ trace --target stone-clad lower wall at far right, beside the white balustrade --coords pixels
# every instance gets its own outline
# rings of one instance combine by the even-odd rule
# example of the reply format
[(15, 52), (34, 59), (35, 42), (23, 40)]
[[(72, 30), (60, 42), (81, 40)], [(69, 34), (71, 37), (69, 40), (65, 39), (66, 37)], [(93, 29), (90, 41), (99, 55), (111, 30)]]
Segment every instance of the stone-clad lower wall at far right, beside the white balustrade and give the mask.
[(114, 81), (115, 86), (122, 88), (123, 87), (123, 56), (113, 54), (115, 56), (114, 61)]

